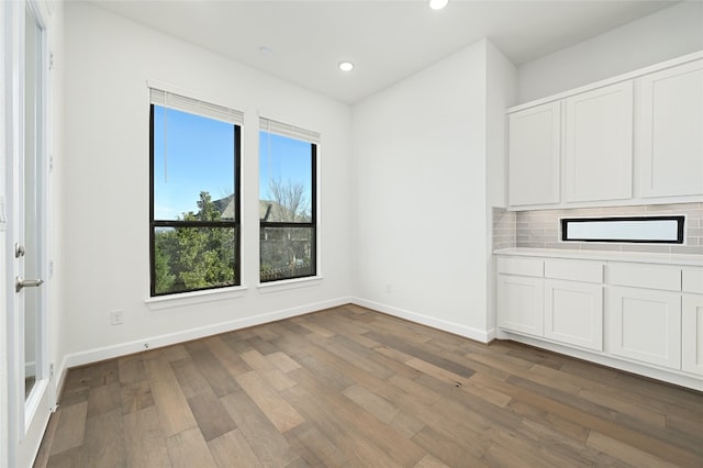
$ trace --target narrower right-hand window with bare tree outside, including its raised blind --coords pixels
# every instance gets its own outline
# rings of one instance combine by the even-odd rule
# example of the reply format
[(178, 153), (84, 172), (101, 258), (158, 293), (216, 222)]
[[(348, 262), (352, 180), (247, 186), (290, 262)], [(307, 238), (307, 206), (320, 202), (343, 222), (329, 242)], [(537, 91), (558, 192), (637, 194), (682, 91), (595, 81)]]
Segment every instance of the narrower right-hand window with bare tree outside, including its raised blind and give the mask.
[(260, 119), (260, 281), (316, 275), (316, 158), (320, 136)]

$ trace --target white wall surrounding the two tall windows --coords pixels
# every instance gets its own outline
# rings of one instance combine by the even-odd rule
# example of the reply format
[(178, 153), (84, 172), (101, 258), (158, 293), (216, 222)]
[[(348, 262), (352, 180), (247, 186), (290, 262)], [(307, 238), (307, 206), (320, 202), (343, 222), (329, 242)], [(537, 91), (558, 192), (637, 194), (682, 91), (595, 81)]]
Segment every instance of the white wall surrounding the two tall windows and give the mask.
[[(350, 109), (96, 7), (66, 4), (66, 153), (62, 164), (62, 353), (68, 366), (348, 301)], [(152, 311), (146, 80), (245, 111), (244, 297)], [(258, 112), (322, 134), (317, 286), (258, 283)], [(111, 326), (109, 312), (124, 324)]]

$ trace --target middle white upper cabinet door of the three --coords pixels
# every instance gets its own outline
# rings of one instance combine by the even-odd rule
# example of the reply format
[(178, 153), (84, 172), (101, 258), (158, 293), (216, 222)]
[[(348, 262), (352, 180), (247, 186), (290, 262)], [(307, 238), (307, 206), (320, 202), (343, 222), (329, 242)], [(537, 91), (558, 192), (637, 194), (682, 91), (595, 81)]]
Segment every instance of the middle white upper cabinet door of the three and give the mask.
[(566, 201), (632, 198), (633, 82), (566, 100)]

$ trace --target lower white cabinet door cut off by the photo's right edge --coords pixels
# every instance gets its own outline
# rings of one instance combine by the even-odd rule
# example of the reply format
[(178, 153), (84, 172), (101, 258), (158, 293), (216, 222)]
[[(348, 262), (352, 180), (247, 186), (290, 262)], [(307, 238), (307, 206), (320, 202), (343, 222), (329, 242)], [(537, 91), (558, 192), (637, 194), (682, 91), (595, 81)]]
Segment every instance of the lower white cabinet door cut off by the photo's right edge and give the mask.
[(703, 296), (684, 296), (681, 313), (681, 368), (703, 376)]

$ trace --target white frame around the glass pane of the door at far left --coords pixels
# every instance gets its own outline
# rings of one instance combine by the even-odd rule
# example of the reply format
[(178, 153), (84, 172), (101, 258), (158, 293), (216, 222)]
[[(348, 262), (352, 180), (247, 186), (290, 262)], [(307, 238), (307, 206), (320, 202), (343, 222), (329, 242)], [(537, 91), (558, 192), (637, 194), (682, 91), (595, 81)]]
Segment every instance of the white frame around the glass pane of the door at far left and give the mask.
[[(55, 406), (53, 385), (51, 382), (48, 366), (48, 285), (40, 288), (40, 310), (37, 311), (37, 336), (41, 341), (41, 353), (37, 356), (36, 382), (25, 399), (24, 394), (24, 311), (22, 300), (15, 293), (14, 281), (20, 275), (19, 261), (14, 256), (14, 245), (23, 236), (24, 225), (22, 207), (20, 203), (24, 197), (23, 191), (23, 164), (24, 164), (24, 56), (25, 56), (25, 15), (31, 10), (35, 16), (41, 33), (41, 85), (40, 107), (40, 156), (37, 157), (37, 171), (41, 179), (37, 197), (41, 199), (41, 225), (38, 242), (41, 244), (41, 277), (46, 280), (48, 276), (48, 221), (49, 216), (49, 52), (48, 52), (48, 19), (49, 4), (45, 0), (24, 0), (21, 2), (2, 2), (0, 7), (0, 21), (3, 25), (1, 46), (3, 52), (2, 76), (0, 78), (0, 92), (2, 92), (3, 110), (2, 134), (4, 147), (2, 147), (2, 169), (0, 177), (4, 191), (0, 193), (0, 202), (4, 201), (7, 223), (4, 231), (0, 233), (2, 238), (2, 292), (7, 298), (3, 301), (0, 332), (2, 336), (2, 354), (0, 364), (7, 369), (7, 375), (0, 374), (0, 408), (4, 413), (0, 423), (0, 453), (7, 454), (0, 457), (0, 465), (24, 467), (31, 466), (48, 422), (48, 416)], [(0, 207), (2, 209), (2, 207)], [(2, 213), (0, 213), (1, 215)], [(5, 430), (7, 427), (7, 430)]]

